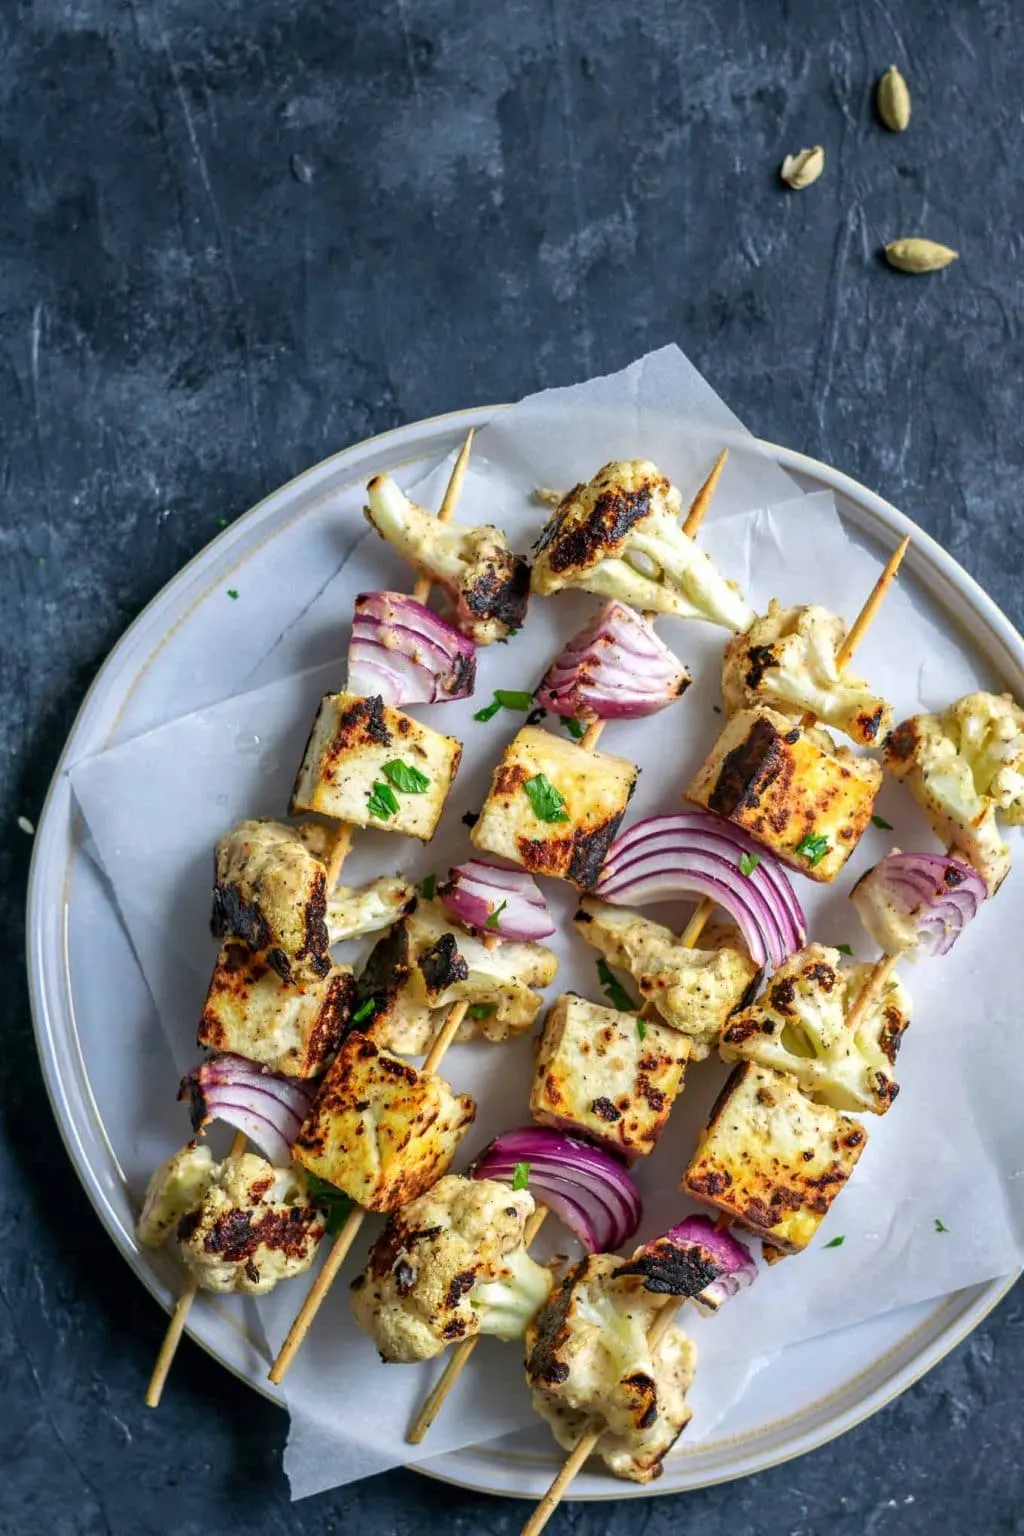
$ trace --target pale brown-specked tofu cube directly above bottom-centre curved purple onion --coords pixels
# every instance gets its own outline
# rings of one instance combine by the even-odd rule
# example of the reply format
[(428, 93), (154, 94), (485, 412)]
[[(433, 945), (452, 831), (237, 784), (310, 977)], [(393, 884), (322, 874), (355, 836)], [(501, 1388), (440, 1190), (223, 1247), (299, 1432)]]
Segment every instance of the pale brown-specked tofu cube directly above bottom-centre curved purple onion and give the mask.
[(542, 1126), (645, 1157), (683, 1086), (688, 1057), (676, 1029), (567, 992), (548, 1009), (530, 1114)]

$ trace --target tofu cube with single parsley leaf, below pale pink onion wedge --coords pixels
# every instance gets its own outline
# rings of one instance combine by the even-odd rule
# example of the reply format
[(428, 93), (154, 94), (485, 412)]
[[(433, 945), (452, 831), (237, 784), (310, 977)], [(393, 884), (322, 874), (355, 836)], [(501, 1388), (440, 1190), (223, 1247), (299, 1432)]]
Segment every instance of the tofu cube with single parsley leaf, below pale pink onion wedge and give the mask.
[(637, 782), (636, 763), (585, 753), (536, 725), (505, 748), (476, 826), (477, 848), (590, 889)]

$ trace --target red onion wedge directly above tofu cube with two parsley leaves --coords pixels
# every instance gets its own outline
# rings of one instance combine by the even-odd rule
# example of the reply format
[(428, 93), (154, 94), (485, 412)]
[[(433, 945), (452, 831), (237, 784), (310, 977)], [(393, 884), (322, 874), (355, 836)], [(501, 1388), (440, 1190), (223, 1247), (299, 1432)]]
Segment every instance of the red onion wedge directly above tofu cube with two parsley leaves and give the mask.
[(439, 614), (401, 591), (356, 598), (345, 690), (385, 703), (445, 703), (476, 687), (476, 647)]

